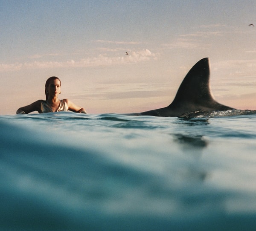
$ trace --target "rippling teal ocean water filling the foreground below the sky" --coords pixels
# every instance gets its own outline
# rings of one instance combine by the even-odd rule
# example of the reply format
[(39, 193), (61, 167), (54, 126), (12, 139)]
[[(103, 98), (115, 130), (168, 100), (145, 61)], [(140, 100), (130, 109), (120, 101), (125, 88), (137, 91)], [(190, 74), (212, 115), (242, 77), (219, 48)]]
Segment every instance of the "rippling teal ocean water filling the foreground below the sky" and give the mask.
[(255, 227), (255, 111), (0, 116), (1, 231)]

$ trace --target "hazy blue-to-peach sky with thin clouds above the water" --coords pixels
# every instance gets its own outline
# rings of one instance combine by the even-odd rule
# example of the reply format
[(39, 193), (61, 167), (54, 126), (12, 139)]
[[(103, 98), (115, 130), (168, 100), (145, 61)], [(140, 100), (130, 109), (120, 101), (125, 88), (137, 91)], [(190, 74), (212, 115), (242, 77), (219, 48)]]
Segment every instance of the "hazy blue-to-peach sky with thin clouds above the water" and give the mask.
[(205, 57), (215, 100), (256, 110), (250, 23), (255, 0), (0, 1), (0, 114), (45, 99), (50, 76), (87, 113), (166, 107)]

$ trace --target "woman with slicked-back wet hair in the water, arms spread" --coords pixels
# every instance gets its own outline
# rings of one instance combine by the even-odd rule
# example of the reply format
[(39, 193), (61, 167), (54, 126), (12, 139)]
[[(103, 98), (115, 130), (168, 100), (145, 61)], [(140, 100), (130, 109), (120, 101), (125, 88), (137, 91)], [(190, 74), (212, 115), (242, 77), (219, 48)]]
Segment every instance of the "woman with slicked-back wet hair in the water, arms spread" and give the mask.
[(61, 81), (59, 78), (53, 76), (47, 79), (45, 83), (45, 96), (46, 100), (38, 100), (32, 104), (20, 107), (16, 114), (28, 114), (33, 111), (38, 113), (60, 112), (60, 111), (73, 111), (76, 113), (86, 113), (84, 108), (76, 106), (68, 99), (58, 99), (61, 94)]

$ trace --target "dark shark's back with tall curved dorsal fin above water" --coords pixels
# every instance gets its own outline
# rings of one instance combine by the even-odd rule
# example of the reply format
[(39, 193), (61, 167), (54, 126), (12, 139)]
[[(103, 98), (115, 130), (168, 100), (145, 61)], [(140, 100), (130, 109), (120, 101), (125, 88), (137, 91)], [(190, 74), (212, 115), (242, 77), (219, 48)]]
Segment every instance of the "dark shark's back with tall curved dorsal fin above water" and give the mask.
[(141, 113), (150, 116), (180, 116), (183, 113), (204, 110), (230, 110), (212, 97), (209, 87), (209, 59), (198, 61), (183, 79), (177, 94), (168, 107)]

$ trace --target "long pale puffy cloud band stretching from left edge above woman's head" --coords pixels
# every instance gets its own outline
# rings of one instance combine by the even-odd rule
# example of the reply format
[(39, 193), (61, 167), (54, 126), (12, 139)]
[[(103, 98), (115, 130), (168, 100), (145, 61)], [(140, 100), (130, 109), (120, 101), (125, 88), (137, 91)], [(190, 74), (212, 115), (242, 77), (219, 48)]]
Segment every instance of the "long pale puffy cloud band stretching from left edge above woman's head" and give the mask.
[(21, 69), (47, 69), (47, 68), (76, 68), (76, 67), (93, 67), (109, 66), (119, 64), (131, 64), (156, 59), (156, 55), (148, 49), (131, 51), (129, 55), (108, 56), (100, 54), (94, 58), (83, 58), (79, 61), (34, 61), (15, 64), (0, 64), (0, 72), (18, 71)]

